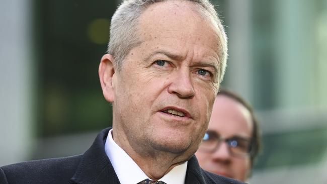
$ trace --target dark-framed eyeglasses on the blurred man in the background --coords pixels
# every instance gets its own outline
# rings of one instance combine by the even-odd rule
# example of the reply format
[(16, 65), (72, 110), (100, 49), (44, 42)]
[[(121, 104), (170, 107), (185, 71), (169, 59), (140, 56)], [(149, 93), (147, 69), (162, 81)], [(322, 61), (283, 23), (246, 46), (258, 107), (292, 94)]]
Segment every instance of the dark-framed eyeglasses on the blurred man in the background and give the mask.
[(228, 151), (232, 156), (247, 157), (251, 155), (254, 141), (248, 138), (233, 136), (230, 138), (221, 138), (219, 134), (214, 131), (207, 131), (200, 144), (199, 151), (215, 152), (222, 142), (228, 145)]

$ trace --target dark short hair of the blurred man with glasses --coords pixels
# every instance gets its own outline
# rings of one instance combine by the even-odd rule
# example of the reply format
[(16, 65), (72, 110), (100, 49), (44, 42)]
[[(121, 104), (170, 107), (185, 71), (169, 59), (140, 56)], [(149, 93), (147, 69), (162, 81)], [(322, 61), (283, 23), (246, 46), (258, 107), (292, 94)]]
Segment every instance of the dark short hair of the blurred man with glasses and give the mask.
[(252, 130), (252, 136), (251, 136), (251, 142), (252, 142), (252, 148), (251, 148), (251, 153), (250, 153), (250, 159), (251, 159), (251, 166), (253, 166), (255, 158), (258, 156), (259, 150), (261, 148), (261, 132), (259, 129), (259, 122), (258, 119), (256, 118), (254, 114), (254, 110), (252, 106), (246, 102), (244, 99), (242, 99), (240, 96), (236, 95), (232, 91), (225, 89), (225, 88), (220, 88), (219, 92), (217, 94), (218, 96), (226, 96), (234, 101), (240, 103), (243, 105), (245, 108), (247, 108), (251, 114), (252, 118), (252, 123), (253, 123), (253, 130)]

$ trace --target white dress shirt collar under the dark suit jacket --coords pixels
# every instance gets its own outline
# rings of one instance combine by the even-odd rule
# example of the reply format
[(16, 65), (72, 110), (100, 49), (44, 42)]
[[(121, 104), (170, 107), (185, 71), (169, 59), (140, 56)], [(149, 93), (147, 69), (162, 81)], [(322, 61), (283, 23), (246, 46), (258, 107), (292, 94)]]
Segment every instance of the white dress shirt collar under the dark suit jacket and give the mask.
[[(135, 161), (114, 141), (112, 129), (108, 133), (105, 143), (105, 151), (121, 184), (138, 183), (149, 178)], [(187, 161), (175, 166), (159, 180), (167, 184), (184, 184), (187, 169)]]

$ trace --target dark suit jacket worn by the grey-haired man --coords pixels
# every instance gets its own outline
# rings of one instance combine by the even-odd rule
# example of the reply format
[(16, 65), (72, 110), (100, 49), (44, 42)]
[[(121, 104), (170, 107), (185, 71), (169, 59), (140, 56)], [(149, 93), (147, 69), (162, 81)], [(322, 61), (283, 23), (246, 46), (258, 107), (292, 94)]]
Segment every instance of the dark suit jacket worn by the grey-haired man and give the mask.
[[(119, 184), (104, 148), (109, 130), (110, 128), (103, 130), (82, 155), (27, 161), (0, 167), (0, 184)], [(188, 162), (186, 183), (241, 182), (204, 171), (193, 156)]]

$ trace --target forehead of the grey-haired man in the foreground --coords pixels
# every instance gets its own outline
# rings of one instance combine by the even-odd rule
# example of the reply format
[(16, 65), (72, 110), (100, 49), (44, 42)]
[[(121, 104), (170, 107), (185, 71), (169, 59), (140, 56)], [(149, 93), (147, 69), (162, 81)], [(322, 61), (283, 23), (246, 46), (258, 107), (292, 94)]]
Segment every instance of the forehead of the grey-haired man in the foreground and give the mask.
[(189, 1), (155, 3), (140, 16), (138, 33), (143, 41), (167, 38), (186, 40), (192, 44), (207, 40), (206, 46), (218, 53), (218, 29), (205, 15), (200, 5)]

